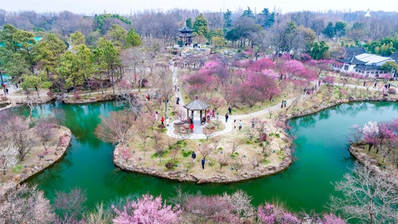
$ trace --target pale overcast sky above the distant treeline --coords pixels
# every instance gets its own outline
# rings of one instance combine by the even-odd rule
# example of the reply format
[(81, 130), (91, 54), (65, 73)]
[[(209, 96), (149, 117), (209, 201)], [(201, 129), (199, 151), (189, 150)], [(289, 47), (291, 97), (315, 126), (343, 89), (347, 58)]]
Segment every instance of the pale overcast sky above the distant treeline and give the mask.
[(68, 10), (94, 14), (106, 12), (128, 14), (145, 9), (195, 8), (200, 11), (220, 11), (251, 7), (257, 12), (263, 8), (280, 8), (282, 13), (300, 10), (367, 10), (397, 11), (398, 0), (1, 0), (0, 8), (7, 11), (35, 10), (38, 12)]

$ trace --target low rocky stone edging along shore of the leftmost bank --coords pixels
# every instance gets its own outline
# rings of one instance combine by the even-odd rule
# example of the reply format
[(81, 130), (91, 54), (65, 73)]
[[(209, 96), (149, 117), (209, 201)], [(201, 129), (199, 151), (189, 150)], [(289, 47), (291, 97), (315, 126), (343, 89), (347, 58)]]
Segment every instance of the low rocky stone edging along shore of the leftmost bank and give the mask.
[(44, 169), (46, 169), (47, 167), (51, 166), (52, 164), (54, 164), (56, 161), (58, 161), (60, 158), (63, 157), (63, 155), (66, 152), (66, 149), (68, 148), (69, 144), (70, 144), (70, 140), (72, 139), (72, 133), (70, 131), (70, 129), (66, 128), (66, 127), (61, 127), (60, 128), (62, 130), (62, 132), (64, 133), (61, 137), (66, 136), (67, 137), (67, 144), (64, 146), (58, 146), (54, 155), (56, 155), (55, 158), (53, 159), (49, 159), (49, 160), (45, 160), (42, 159), (38, 164), (34, 164), (32, 166), (28, 166), (26, 168), (22, 168), (22, 173), (21, 174), (17, 174), (15, 176), (13, 176), (12, 179), (8, 180), (7, 182), (3, 183), (0, 186), (0, 197), (5, 194), (9, 189), (17, 186), (18, 184), (20, 184), (22, 181), (29, 179), (30, 177), (42, 172)]

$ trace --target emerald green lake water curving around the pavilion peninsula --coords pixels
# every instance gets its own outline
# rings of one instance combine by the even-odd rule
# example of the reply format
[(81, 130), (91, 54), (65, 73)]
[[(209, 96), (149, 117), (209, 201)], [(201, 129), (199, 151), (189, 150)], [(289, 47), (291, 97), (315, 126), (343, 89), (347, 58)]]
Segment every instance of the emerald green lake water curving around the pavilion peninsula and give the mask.
[[(291, 131), (297, 139), (294, 140), (293, 165), (286, 171), (239, 183), (198, 185), (118, 171), (112, 163), (113, 146), (93, 134), (100, 122), (99, 115), (116, 110), (112, 102), (46, 104), (37, 107), (34, 116), (51, 113), (54, 107), (66, 113), (64, 125), (72, 131), (71, 146), (65, 157), (28, 182), (38, 184), (50, 200), (57, 190), (86, 189), (88, 207), (129, 194), (148, 192), (168, 198), (175, 186), (181, 186), (185, 191), (201, 191), (205, 195), (242, 189), (253, 197), (254, 204), (278, 199), (292, 210), (304, 208), (321, 212), (325, 210), (329, 195), (334, 193), (331, 182), (340, 180), (355, 161), (347, 150), (348, 128), (369, 120), (389, 120), (398, 116), (398, 103), (368, 102), (343, 104), (292, 119)], [(14, 111), (28, 113), (26, 108)]]

